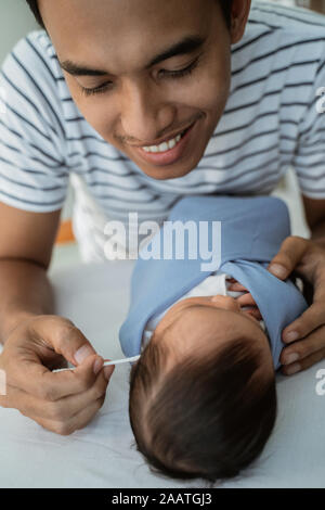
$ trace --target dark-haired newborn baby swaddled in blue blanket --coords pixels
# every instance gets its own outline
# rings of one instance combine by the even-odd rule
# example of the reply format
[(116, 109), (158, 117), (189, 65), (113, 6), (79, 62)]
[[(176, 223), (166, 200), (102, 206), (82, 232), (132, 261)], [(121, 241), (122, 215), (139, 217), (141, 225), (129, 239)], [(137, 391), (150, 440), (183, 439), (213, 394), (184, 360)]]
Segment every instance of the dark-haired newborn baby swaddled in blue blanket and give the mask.
[[(240, 260), (245, 260), (245, 255), (247, 259), (257, 259), (252, 269), (259, 266), (262, 279), (266, 278), (266, 285), (263, 286), (266, 298), (260, 302), (263, 310), (257, 305), (240, 306), (238, 296), (248, 285), (244, 286), (239, 279), (236, 281), (221, 266), (202, 277), (198, 284), (173, 299), (171, 305), (162, 306), (162, 310), (156, 306), (158, 313), (146, 314), (143, 320), (141, 302), (147, 298), (146, 308), (151, 307), (154, 299), (152, 288), (157, 294), (168, 295), (168, 285), (172, 286), (170, 265), (174, 263), (167, 266), (166, 263), (155, 262), (150, 267), (148, 262), (138, 260), (129, 318), (120, 330), (125, 353), (134, 355), (141, 352), (140, 360), (131, 369), (129, 401), (130, 422), (138, 449), (154, 472), (173, 479), (203, 477), (211, 483), (238, 475), (263, 450), (276, 419), (275, 369), (280, 366), (282, 346), (273, 323), (277, 319), (289, 323), (292, 317), (307, 308), (292, 282), (281, 282), (265, 269), (268, 253), (271, 260), (283, 239), (289, 235), (287, 211), (282, 201), (273, 197), (226, 197), (226, 202), (222, 202), (224, 199), (183, 199), (185, 203), (178, 206), (178, 217), (188, 219), (186, 212), (192, 211), (192, 219), (210, 218), (211, 212), (214, 219), (221, 219), (225, 246), (222, 260), (233, 259), (232, 232), (235, 234), (235, 251), (240, 255)], [(231, 207), (224, 208), (229, 201)], [(281, 207), (280, 202), (283, 204)], [(268, 229), (261, 221), (261, 206), (272, 214)], [(203, 209), (208, 211), (206, 216), (202, 216)], [(238, 217), (234, 220), (232, 211), (236, 209)], [(193, 213), (195, 211), (200, 214)], [(253, 217), (259, 227), (251, 227)], [(259, 240), (255, 246), (263, 252), (260, 258), (251, 245), (248, 251), (245, 248), (247, 232), (242, 230), (243, 238), (238, 238), (240, 221), (242, 228), (247, 224), (246, 230), (251, 232), (250, 241)], [(278, 221), (281, 227), (277, 228)], [(272, 246), (263, 238), (265, 231), (270, 233)], [(225, 253), (226, 246), (231, 246), (231, 253)], [(181, 265), (174, 271), (176, 279), (181, 278), (182, 267), (186, 272), (185, 265), (178, 263)], [(158, 286), (160, 266), (161, 284)], [(148, 271), (147, 283), (143, 278), (145, 267)], [(191, 271), (195, 280), (196, 269), (191, 268)], [(268, 276), (263, 276), (263, 271)], [(141, 292), (138, 293), (136, 278), (138, 283), (141, 282)], [(155, 282), (153, 285), (150, 283), (152, 280)], [(291, 307), (290, 313), (286, 307)], [(266, 327), (263, 313), (268, 319)], [(130, 347), (135, 345), (133, 340), (138, 328), (132, 316), (138, 317), (141, 323), (141, 342), (136, 344), (136, 352)], [(272, 329), (271, 336), (268, 326)]]

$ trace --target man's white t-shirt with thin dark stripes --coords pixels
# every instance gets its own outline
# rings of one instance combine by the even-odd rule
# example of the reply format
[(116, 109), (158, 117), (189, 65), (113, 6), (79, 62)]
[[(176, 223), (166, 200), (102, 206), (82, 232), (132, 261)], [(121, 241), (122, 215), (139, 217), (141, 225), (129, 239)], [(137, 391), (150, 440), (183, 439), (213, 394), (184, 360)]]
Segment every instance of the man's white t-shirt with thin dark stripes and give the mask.
[(146, 176), (88, 124), (44, 30), (14, 47), (0, 79), (0, 201), (60, 209), (72, 177), (87, 260), (105, 258), (108, 220), (162, 222), (187, 194), (269, 194), (289, 166), (304, 195), (325, 199), (325, 17), (311, 11), (252, 1), (224, 113), (197, 167), (176, 179)]

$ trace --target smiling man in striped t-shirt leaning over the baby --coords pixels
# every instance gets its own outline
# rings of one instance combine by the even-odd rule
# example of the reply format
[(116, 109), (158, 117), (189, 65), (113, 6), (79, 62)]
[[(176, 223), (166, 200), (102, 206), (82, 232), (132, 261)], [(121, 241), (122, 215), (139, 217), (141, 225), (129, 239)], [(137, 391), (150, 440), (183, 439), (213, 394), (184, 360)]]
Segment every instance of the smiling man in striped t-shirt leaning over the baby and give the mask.
[[(28, 3), (47, 33), (15, 47), (1, 79), (1, 406), (69, 434), (104, 401), (112, 369), (52, 315), (47, 278), (70, 173), (91, 259), (104, 258), (108, 219), (161, 221), (191, 193), (268, 194), (292, 164), (312, 239), (287, 238), (271, 264), (314, 295), (284, 330), (281, 362), (289, 374), (323, 359), (324, 18), (259, 1), (250, 12), (250, 0)], [(63, 358), (76, 371), (52, 373)]]

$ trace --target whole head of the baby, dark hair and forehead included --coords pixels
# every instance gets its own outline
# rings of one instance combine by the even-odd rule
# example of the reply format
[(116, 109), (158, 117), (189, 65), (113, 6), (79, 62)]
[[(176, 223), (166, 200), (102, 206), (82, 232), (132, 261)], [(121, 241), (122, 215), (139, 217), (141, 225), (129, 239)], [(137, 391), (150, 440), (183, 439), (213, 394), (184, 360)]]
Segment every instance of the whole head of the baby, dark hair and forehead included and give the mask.
[(261, 454), (275, 374), (259, 321), (230, 296), (173, 305), (130, 374), (130, 421), (152, 470), (221, 482)]

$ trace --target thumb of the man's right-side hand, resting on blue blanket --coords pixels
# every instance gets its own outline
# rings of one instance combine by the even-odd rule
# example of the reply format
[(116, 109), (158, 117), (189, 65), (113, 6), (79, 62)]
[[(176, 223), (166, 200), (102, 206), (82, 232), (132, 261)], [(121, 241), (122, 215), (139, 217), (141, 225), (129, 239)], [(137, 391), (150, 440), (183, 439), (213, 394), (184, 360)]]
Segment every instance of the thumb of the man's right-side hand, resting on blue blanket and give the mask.
[(298, 235), (286, 238), (280, 252), (272, 258), (268, 270), (281, 280), (285, 280), (300, 263), (309, 247), (310, 241), (308, 239)]

